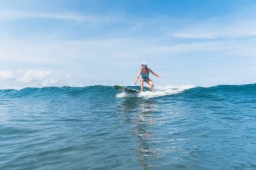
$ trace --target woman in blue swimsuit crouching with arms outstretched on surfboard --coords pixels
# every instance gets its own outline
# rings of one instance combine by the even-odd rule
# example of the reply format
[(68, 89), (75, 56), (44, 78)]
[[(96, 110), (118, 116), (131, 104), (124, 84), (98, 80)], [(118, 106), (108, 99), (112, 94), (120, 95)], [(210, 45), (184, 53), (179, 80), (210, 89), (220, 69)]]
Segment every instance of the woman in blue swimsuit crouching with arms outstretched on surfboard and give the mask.
[(155, 75), (156, 77), (162, 78), (162, 75), (157, 75), (156, 73), (154, 73), (154, 71), (152, 71), (152, 69), (148, 68), (148, 65), (146, 64), (146, 62), (142, 62), (141, 69), (139, 70), (137, 78), (135, 79), (135, 82), (133, 83), (133, 85), (136, 85), (137, 80), (139, 79), (139, 76), (141, 76), (141, 79), (140, 79), (141, 92), (143, 91), (144, 81), (150, 85), (150, 91), (152, 91), (152, 89), (154, 87), (154, 82), (148, 76), (148, 75), (150, 75), (150, 73), (152, 73), (152, 75)]

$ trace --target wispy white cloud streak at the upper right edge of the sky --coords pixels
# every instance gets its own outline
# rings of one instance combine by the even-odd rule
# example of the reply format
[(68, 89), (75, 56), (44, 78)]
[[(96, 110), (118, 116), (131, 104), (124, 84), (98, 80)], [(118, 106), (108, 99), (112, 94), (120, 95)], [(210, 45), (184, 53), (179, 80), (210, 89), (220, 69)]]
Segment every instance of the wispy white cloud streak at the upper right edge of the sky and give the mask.
[(169, 35), (176, 38), (208, 39), (219, 38), (248, 38), (256, 36), (255, 14), (241, 17), (241, 14), (228, 17), (210, 18), (187, 24), (181, 30)]

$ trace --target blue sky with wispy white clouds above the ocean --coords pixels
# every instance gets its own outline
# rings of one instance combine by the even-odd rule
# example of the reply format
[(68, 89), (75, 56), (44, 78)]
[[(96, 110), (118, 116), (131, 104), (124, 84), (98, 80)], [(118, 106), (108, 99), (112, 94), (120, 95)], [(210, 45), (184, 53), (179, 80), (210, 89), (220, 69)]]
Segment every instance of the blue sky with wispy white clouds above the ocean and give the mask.
[(256, 2), (0, 1), (0, 89), (255, 83)]

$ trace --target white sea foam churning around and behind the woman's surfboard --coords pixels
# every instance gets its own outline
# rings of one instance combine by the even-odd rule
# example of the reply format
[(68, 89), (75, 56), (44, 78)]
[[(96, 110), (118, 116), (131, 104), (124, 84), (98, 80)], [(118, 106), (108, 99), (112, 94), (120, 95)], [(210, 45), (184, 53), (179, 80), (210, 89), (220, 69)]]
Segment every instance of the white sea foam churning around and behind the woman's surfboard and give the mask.
[(117, 97), (143, 97), (143, 98), (154, 98), (164, 95), (177, 94), (196, 87), (195, 85), (167, 85), (165, 87), (156, 87), (153, 91), (143, 91), (141, 93), (118, 93)]

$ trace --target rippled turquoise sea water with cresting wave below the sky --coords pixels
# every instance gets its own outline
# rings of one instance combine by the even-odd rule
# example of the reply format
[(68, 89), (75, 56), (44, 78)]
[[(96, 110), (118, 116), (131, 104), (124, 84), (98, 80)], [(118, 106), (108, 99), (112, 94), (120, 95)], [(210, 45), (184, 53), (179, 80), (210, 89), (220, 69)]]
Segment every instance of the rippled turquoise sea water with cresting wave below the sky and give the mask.
[(256, 169), (255, 122), (256, 85), (1, 90), (0, 169)]

